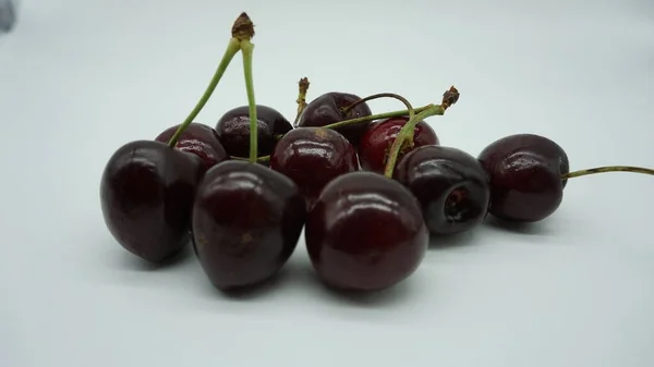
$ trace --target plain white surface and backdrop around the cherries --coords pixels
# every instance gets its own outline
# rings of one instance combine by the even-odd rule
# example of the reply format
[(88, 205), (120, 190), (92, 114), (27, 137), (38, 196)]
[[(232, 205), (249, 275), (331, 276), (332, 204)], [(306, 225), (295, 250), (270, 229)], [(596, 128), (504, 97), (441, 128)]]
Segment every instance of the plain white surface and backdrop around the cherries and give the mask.
[[(192, 257), (146, 270), (98, 198), (116, 148), (184, 119), (242, 10), (257, 101), (289, 119), (301, 76), (310, 98), (415, 106), (455, 84), (460, 102), (429, 120), (446, 145), (476, 155), (532, 132), (572, 169), (652, 167), (651, 1), (227, 2), (23, 2), (0, 46), (0, 366), (654, 366), (650, 176), (576, 179), (533, 232), (484, 225), (359, 301), (315, 283), (303, 241), (246, 299), (215, 292)], [(199, 121), (246, 103), (234, 60)]]

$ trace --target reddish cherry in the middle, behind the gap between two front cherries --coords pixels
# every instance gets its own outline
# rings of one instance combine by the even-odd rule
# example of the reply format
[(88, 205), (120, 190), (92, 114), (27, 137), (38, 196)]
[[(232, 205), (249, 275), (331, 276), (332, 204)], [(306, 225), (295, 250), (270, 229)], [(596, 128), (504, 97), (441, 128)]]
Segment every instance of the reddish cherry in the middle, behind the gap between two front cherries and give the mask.
[(354, 146), (339, 132), (298, 127), (287, 133), (270, 156), (270, 168), (295, 182), (311, 208), (335, 178), (359, 169)]

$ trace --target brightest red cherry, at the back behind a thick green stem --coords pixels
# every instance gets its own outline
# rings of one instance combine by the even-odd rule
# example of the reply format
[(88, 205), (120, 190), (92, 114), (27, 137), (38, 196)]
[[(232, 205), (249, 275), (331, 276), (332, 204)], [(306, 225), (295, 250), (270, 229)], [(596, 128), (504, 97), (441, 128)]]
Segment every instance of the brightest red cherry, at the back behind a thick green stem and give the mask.
[[(359, 143), (358, 151), (361, 168), (366, 171), (384, 173), (390, 146), (408, 121), (409, 118), (404, 117), (380, 120), (371, 124), (365, 130), (365, 133)], [(424, 121), (420, 121), (415, 125), (413, 134), (414, 147), (440, 144), (434, 129)], [(402, 158), (403, 154), (407, 154), (407, 151), (408, 150), (400, 152), (398, 161)]]

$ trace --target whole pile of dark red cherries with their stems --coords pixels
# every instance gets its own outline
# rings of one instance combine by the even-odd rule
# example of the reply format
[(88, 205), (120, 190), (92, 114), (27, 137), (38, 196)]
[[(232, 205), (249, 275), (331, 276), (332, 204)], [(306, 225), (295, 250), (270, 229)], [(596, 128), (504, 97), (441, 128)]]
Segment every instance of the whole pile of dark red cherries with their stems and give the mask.
[[(413, 108), (404, 98), (327, 93), (306, 103), (300, 81), (294, 123), (256, 105), (245, 13), (198, 105), (155, 139), (120, 147), (100, 184), (105, 221), (117, 242), (155, 264), (190, 243), (210, 282), (223, 292), (272, 279), (302, 230), (311, 262), (340, 290), (392, 286), (420, 266), (429, 241), (470, 231), (487, 215), (534, 222), (559, 207), (570, 178), (564, 149), (533, 134), (507, 136), (477, 156), (443, 146), (425, 123), (457, 102), (451, 87), (439, 105)], [(233, 57), (241, 52), (247, 106), (193, 122)], [(367, 101), (396, 98), (405, 110), (373, 114)], [(191, 240), (191, 241), (190, 241)]]

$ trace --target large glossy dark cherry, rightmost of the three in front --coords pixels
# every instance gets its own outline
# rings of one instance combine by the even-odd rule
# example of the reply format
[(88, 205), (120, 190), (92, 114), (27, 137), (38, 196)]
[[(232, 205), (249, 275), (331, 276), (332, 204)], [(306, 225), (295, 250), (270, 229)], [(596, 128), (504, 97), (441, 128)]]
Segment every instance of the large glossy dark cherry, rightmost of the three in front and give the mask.
[(378, 291), (422, 262), (428, 232), (415, 197), (384, 175), (356, 171), (325, 186), (305, 227), (319, 279), (347, 291)]

